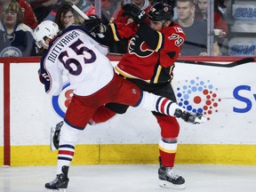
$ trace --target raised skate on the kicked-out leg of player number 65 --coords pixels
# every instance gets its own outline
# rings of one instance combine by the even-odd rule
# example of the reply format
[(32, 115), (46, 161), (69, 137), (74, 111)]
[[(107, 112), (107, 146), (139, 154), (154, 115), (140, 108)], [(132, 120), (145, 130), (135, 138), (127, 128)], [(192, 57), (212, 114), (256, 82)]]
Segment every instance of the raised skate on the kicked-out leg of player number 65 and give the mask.
[(204, 117), (203, 114), (200, 113), (190, 113), (188, 111), (183, 111), (180, 110), (180, 108), (177, 108), (175, 110), (174, 116), (177, 118), (183, 119), (185, 122), (188, 122), (190, 124), (202, 124), (207, 121), (207, 119)]

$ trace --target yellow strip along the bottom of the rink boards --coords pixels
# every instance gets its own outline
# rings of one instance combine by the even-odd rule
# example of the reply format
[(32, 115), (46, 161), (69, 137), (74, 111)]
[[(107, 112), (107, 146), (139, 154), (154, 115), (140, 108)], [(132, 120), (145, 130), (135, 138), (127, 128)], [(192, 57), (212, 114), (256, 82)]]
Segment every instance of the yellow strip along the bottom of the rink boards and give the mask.
[[(0, 164), (4, 148), (0, 147)], [(158, 144), (77, 145), (72, 164), (158, 164)], [(49, 146), (12, 146), (11, 165), (53, 165)], [(256, 164), (256, 145), (180, 144), (176, 164)]]

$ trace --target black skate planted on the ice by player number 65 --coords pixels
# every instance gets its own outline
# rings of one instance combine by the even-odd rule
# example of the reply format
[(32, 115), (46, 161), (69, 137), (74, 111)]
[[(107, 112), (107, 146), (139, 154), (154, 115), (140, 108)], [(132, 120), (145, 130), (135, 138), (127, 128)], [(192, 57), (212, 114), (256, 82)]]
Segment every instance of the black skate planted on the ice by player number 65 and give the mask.
[(62, 167), (62, 173), (58, 174), (55, 180), (48, 182), (45, 184), (45, 188), (49, 189), (49, 191), (60, 191), (66, 192), (68, 188), (68, 166)]

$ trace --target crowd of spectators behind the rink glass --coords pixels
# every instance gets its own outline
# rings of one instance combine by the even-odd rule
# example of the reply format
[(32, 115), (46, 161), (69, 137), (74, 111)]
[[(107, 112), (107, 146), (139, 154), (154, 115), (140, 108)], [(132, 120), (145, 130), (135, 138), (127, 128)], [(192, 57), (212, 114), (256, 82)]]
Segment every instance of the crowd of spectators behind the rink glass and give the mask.
[[(94, 2), (90, 0), (68, 0), (72, 4), (76, 4), (80, 10), (86, 13), (88, 16), (95, 14)], [(156, 0), (157, 1), (157, 0)], [(108, 25), (108, 22), (127, 22), (127, 18), (122, 16), (122, 5), (124, 4), (136, 4), (141, 10), (148, 12), (152, 4), (156, 3), (154, 0), (101, 0), (101, 13), (100, 17), (103, 24)], [(178, 4), (186, 5), (186, 2), (193, 2), (195, 6), (191, 4), (188, 13), (184, 13), (184, 7), (177, 6)], [(196, 46), (200, 52), (187, 52), (186, 47), (183, 55), (207, 55), (207, 0), (165, 0), (167, 4), (171, 4), (174, 7), (173, 20), (180, 24), (180, 27), (184, 31), (194, 30), (193, 33), (186, 34), (191, 36), (189, 38), (188, 49), (191, 46)], [(195, 9), (194, 9), (195, 7)], [(205, 12), (206, 11), (206, 12)], [(185, 14), (188, 14), (185, 18)], [(183, 17), (183, 18), (182, 18)], [(36, 48), (35, 41), (33, 39), (33, 30), (43, 20), (55, 21), (60, 30), (63, 30), (71, 24), (83, 24), (82, 20), (76, 12), (67, 4), (67, 1), (63, 0), (0, 0), (0, 57), (28, 57), (28, 56), (40, 56), (42, 52)], [(185, 21), (196, 20), (199, 22), (204, 33), (204, 40), (197, 41), (193, 39), (197, 30), (196, 27), (188, 29), (189, 24)], [(223, 45), (225, 37), (228, 34), (228, 28), (226, 24), (225, 13), (225, 1), (215, 0), (214, 6), (214, 28), (221, 29), (221, 33), (215, 36), (217, 53), (214, 55), (221, 55), (220, 48)], [(203, 23), (201, 23), (203, 22)], [(184, 26), (182, 26), (184, 25)], [(192, 25), (192, 24), (191, 24)], [(201, 36), (201, 37), (202, 37)], [(198, 34), (197, 34), (198, 38)], [(125, 53), (127, 51), (127, 42), (124, 40), (118, 44), (113, 44), (109, 47), (109, 52)], [(215, 43), (214, 43), (215, 44)], [(193, 48), (192, 48), (193, 49)], [(214, 45), (215, 50), (215, 45)]]

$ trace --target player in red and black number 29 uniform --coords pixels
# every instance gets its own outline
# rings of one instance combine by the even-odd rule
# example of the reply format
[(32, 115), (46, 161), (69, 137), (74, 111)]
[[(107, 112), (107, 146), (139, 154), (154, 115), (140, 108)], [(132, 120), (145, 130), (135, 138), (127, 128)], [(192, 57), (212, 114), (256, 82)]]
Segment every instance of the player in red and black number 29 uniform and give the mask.
[[(132, 6), (132, 15), (134, 9)], [(137, 15), (143, 15), (139, 12)], [(116, 72), (127, 80), (137, 84), (143, 91), (153, 92), (170, 100), (175, 100), (172, 90), (172, 70), (177, 60), (185, 34), (180, 26), (172, 21), (173, 9), (169, 4), (156, 3), (148, 12), (149, 26), (133, 17), (140, 24), (135, 36), (128, 45), (128, 52), (116, 66)], [(110, 24), (115, 40), (128, 36), (127, 31), (120, 31), (118, 24)], [(100, 123), (114, 116), (124, 114), (129, 106), (108, 103), (102, 106), (92, 116), (92, 122)], [(115, 112), (115, 113), (114, 113)], [(173, 172), (180, 125), (174, 116), (165, 116), (156, 111), (152, 112), (161, 128), (159, 152), (161, 166), (158, 170), (160, 186), (164, 188), (185, 188), (185, 180)], [(104, 116), (105, 114), (105, 116)]]

